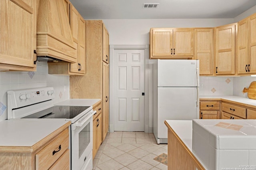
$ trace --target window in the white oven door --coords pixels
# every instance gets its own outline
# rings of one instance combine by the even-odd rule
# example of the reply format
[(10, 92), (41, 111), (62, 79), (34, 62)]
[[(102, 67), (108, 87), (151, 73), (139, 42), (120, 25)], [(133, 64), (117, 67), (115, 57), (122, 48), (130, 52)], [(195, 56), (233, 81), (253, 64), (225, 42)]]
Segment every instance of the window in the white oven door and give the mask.
[(90, 143), (90, 122), (79, 133), (79, 158)]

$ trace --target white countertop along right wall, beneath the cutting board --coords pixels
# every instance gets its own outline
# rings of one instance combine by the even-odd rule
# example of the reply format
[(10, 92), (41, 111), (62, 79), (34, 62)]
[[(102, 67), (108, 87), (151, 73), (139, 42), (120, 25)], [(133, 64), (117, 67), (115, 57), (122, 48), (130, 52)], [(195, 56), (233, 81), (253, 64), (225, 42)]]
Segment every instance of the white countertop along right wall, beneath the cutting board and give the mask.
[(225, 99), (225, 100), (230, 100), (233, 102), (239, 102), (242, 104), (248, 104), (252, 106), (256, 106), (256, 100), (254, 99), (248, 99), (248, 98), (242, 98), (240, 96), (200, 96), (200, 99)]

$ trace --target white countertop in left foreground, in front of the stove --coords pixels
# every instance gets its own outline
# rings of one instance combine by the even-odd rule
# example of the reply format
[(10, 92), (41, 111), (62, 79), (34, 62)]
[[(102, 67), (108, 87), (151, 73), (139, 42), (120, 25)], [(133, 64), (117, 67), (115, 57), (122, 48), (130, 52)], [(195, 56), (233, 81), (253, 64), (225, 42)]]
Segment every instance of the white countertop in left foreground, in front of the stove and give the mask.
[(0, 146), (32, 147), (67, 122), (56, 119), (10, 119), (0, 121)]

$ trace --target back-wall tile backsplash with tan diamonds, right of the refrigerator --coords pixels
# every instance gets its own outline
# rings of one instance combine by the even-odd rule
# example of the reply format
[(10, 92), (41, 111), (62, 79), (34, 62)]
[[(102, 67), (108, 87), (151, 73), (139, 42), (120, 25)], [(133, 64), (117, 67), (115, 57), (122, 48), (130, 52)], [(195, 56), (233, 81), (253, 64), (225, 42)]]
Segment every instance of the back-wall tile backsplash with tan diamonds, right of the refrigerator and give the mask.
[(233, 95), (234, 77), (200, 76), (200, 96)]

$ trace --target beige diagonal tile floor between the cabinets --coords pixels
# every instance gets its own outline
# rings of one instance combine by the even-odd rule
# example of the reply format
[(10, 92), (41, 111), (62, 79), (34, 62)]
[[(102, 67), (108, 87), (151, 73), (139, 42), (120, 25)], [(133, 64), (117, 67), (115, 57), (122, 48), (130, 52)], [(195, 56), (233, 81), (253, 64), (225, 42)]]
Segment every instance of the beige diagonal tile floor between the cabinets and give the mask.
[(167, 144), (157, 144), (153, 133), (108, 133), (94, 160), (93, 170), (167, 170), (156, 160)]

